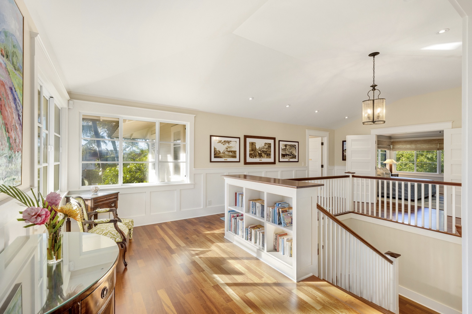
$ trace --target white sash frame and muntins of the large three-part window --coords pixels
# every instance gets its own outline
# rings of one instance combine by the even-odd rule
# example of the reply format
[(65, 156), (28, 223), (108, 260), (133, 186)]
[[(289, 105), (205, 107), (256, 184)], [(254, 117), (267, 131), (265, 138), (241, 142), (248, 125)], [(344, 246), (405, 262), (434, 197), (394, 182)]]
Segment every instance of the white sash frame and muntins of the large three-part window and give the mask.
[[(135, 187), (135, 186), (153, 186), (153, 185), (173, 185), (173, 184), (189, 184), (191, 183), (191, 172), (190, 172), (190, 163), (193, 161), (193, 158), (190, 156), (190, 148), (193, 145), (190, 145), (191, 141), (191, 135), (190, 135), (190, 122), (189, 121), (178, 121), (178, 120), (167, 120), (167, 119), (159, 119), (159, 118), (144, 118), (144, 117), (139, 117), (139, 116), (129, 116), (129, 115), (117, 115), (117, 114), (109, 114), (109, 113), (103, 113), (103, 112), (80, 112), (79, 114), (79, 187), (80, 189), (88, 189), (90, 185), (82, 185), (82, 164), (83, 163), (95, 163), (91, 161), (82, 161), (82, 118), (84, 115), (91, 115), (91, 116), (98, 116), (98, 117), (109, 117), (109, 118), (117, 118), (119, 120), (119, 160), (118, 160), (118, 184), (114, 185), (99, 185), (100, 188), (107, 188), (107, 187)], [(156, 182), (143, 182), (143, 183), (123, 183), (123, 120), (136, 120), (136, 121), (149, 121), (149, 122), (155, 122), (156, 123), (156, 161), (154, 161), (155, 165), (155, 176), (156, 176)], [(160, 161), (159, 161), (159, 155), (160, 155), (160, 144), (161, 143), (170, 143), (170, 142), (161, 142), (160, 141), (160, 123), (175, 123), (175, 124), (183, 124), (185, 125), (185, 143), (184, 142), (179, 142), (178, 144), (185, 144), (185, 162), (181, 161), (162, 161), (163, 163), (185, 163), (185, 180), (181, 181), (168, 181), (168, 182), (159, 182), (159, 177), (160, 177)], [(101, 141), (107, 141), (108, 139), (106, 138), (88, 138), (87, 139), (93, 139), (93, 140), (101, 140)], [(171, 143), (171, 144), (176, 144), (176, 143)], [(107, 162), (102, 162), (102, 163), (107, 163)], [(108, 162), (108, 163), (115, 163), (115, 162)], [(149, 164), (152, 164), (152, 162), (148, 162)]]

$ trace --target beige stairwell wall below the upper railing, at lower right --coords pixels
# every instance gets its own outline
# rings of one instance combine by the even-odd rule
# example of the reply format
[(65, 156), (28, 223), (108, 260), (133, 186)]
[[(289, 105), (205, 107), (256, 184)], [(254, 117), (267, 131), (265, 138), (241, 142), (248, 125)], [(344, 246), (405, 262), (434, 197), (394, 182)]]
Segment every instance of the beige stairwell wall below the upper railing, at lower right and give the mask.
[[(399, 258), (399, 285), (451, 307), (462, 309), (462, 245), (349, 218), (343, 222), (380, 252)], [(393, 223), (392, 223), (393, 224)]]

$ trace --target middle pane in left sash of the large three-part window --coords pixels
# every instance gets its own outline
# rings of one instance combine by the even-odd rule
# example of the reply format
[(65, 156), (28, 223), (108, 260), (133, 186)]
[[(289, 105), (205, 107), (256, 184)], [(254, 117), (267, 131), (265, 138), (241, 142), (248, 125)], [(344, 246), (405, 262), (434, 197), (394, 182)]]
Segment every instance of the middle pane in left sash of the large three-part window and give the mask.
[(82, 161), (118, 161), (118, 141), (82, 140)]

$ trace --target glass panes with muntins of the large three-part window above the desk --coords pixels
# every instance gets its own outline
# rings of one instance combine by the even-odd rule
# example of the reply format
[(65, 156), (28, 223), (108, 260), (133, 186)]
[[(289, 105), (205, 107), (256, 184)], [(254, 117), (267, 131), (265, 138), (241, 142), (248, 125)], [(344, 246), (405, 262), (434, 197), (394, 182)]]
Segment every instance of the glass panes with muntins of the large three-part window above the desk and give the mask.
[(186, 136), (177, 122), (84, 114), (81, 185), (185, 182)]

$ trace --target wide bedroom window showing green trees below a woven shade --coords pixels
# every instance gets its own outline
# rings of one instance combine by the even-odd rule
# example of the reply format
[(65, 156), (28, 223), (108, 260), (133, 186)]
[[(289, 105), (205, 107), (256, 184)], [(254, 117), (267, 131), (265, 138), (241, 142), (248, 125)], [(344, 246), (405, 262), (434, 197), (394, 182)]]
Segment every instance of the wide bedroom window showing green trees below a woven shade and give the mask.
[(444, 151), (397, 151), (397, 172), (444, 173)]

